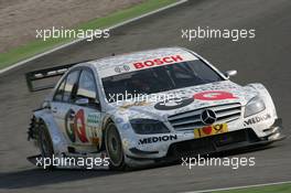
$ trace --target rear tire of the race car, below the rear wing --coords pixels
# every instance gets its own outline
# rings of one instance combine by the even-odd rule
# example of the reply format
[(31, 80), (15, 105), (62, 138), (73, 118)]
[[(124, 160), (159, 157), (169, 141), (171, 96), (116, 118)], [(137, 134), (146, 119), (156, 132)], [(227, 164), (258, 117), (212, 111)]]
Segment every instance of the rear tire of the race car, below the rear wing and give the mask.
[[(43, 122), (39, 125), (37, 144), (39, 144), (42, 158), (43, 159), (50, 158), (52, 162), (53, 154), (54, 154), (53, 142), (52, 142), (51, 135), (46, 126)], [(53, 169), (53, 168), (54, 168), (53, 164), (51, 164), (47, 169)]]

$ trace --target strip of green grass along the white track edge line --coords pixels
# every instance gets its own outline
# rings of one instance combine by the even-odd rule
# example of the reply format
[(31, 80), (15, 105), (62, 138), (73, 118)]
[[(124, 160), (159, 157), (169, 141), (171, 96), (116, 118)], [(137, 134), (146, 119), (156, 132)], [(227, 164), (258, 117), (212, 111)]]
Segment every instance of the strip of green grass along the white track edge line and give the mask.
[[(105, 18), (94, 19), (74, 28), (75, 30), (106, 29), (144, 13), (158, 10), (162, 7), (176, 2), (177, 0), (148, 0), (126, 10), (117, 11)], [(43, 53), (53, 47), (68, 43), (74, 39), (48, 39), (46, 41), (35, 40), (25, 45), (15, 47), (6, 53), (0, 53), (0, 69), (8, 67), (19, 61)]]

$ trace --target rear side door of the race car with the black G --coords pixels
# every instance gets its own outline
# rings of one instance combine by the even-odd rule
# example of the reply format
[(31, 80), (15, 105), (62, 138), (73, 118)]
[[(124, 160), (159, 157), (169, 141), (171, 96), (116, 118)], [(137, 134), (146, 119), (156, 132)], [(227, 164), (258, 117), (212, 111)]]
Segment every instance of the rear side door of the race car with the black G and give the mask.
[(74, 115), (71, 114), (73, 93), (75, 92), (79, 78), (80, 71), (73, 69), (62, 81), (56, 89), (51, 103), (52, 115), (58, 128), (67, 139), (67, 143), (72, 144), (75, 139), (75, 132), (71, 119)]

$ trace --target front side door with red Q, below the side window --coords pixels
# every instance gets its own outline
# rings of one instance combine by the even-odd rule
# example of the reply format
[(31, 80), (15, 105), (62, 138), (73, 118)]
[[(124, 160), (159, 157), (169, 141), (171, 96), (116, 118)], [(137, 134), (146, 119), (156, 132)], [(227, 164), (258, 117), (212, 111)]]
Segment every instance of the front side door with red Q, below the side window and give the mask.
[(75, 148), (99, 151), (101, 148), (100, 106), (96, 81), (89, 68), (80, 73), (69, 114), (74, 115)]

